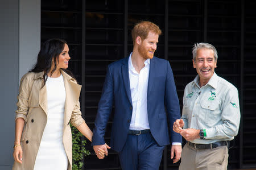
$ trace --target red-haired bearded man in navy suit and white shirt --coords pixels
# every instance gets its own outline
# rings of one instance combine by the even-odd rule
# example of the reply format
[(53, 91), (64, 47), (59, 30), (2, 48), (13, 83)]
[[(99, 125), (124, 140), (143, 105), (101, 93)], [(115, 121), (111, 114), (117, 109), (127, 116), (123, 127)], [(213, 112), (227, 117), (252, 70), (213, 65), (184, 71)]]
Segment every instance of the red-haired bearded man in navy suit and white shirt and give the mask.
[(181, 135), (169, 127), (180, 118), (174, 76), (167, 60), (154, 57), (158, 37), (156, 24), (142, 21), (131, 32), (133, 52), (108, 65), (93, 130), (92, 146), (97, 156), (105, 145), (105, 128), (114, 118), (110, 146), (118, 152), (122, 169), (159, 169), (164, 146), (172, 142), (171, 159), (181, 155)]

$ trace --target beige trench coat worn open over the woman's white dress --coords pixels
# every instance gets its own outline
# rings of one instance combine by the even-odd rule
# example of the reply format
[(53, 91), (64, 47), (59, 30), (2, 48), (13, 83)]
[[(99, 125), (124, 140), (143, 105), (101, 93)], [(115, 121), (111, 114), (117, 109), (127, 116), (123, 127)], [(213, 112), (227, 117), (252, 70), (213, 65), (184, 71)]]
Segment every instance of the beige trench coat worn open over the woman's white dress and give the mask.
[[(81, 125), (79, 96), (81, 85), (67, 73), (61, 70), (66, 90), (63, 144), (68, 156), (68, 170), (72, 169), (72, 134), (69, 122), (75, 127)], [(23, 118), (23, 128), (20, 145), (22, 146), (22, 164), (14, 162), (13, 170), (33, 170), (42, 139), (44, 127), (47, 122), (47, 90), (43, 86), (43, 72), (27, 73), (20, 80), (19, 95), (16, 110), (16, 119)]]

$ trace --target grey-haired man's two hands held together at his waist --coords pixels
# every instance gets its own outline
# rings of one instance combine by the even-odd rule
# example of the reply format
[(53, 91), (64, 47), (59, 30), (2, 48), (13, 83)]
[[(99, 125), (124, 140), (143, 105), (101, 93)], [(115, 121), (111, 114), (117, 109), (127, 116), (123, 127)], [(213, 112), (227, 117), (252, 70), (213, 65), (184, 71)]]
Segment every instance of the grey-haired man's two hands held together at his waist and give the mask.
[(177, 133), (179, 133), (183, 138), (185, 138), (187, 141), (199, 139), (199, 132), (200, 130), (195, 128), (186, 128), (183, 129), (184, 122), (183, 119), (177, 119), (174, 122), (174, 126), (172, 126), (173, 130)]

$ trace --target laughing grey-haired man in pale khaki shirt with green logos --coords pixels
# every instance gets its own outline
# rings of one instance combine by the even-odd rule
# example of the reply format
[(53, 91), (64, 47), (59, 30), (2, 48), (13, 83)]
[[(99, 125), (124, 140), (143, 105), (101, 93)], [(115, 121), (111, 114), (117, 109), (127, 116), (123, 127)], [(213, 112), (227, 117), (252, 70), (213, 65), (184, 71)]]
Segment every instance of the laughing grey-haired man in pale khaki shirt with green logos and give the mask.
[(228, 165), (229, 140), (238, 133), (240, 106), (237, 88), (214, 72), (217, 58), (213, 45), (194, 45), (193, 67), (198, 75), (185, 87), (182, 117), (173, 127), (187, 140), (180, 170)]

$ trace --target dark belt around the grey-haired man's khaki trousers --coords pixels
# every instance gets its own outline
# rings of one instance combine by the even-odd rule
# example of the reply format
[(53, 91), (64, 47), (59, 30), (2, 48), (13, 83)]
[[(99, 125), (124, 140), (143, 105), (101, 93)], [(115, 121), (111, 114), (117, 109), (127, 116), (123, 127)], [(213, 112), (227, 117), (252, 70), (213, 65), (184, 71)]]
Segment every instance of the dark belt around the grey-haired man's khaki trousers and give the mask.
[(229, 141), (222, 140), (219, 142), (214, 142), (214, 143), (209, 143), (209, 144), (199, 144), (199, 143), (187, 142), (187, 145), (189, 147), (195, 148), (196, 150), (206, 150), (206, 149), (217, 148), (218, 146), (229, 146)]

